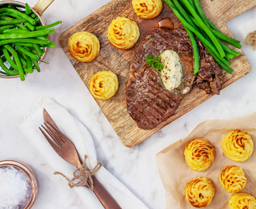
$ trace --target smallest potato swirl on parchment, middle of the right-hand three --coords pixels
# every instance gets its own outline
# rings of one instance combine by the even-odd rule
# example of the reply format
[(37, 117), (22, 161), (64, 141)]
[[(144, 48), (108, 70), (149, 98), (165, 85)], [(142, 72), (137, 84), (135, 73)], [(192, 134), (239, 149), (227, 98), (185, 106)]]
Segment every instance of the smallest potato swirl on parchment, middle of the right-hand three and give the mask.
[(236, 193), (244, 189), (247, 179), (242, 168), (227, 166), (220, 173), (220, 183), (227, 192)]

